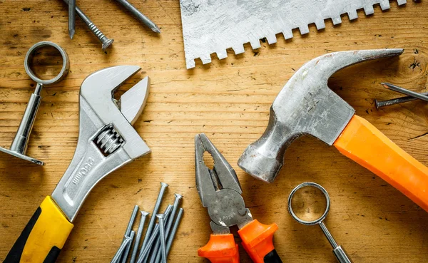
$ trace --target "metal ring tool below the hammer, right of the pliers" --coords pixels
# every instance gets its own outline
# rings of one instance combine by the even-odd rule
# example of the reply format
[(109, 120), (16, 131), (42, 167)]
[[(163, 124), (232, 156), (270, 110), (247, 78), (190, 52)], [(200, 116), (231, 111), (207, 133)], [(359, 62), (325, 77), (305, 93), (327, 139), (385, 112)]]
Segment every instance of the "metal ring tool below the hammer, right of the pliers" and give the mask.
[[(321, 192), (325, 196), (325, 201), (327, 203), (327, 206), (325, 207), (324, 214), (322, 214), (322, 216), (320, 218), (318, 218), (317, 220), (313, 220), (313, 221), (302, 220), (299, 217), (297, 217), (297, 215), (295, 215), (295, 212), (292, 210), (292, 205), (291, 205), (292, 197), (295, 195), (297, 190), (300, 190), (303, 187), (316, 187), (317, 189), (321, 190)], [(302, 184), (297, 185), (297, 187), (295, 187), (295, 189), (293, 189), (290, 192), (290, 196), (288, 197), (288, 212), (290, 212), (290, 215), (300, 224), (303, 224), (303, 225), (320, 225), (322, 232), (324, 232), (325, 236), (327, 237), (328, 241), (330, 242), (330, 244), (333, 247), (333, 254), (336, 257), (337, 262), (352, 263), (352, 260), (350, 259), (350, 257), (345, 252), (345, 249), (343, 249), (341, 246), (337, 245), (335, 239), (332, 237), (332, 234), (330, 234), (330, 232), (327, 230), (327, 227), (325, 226), (325, 224), (323, 222), (325, 220), (325, 217), (327, 217), (329, 210), (330, 210), (330, 196), (328, 195), (328, 192), (327, 192), (327, 190), (325, 190), (324, 187), (322, 187), (321, 185), (318, 185), (315, 182), (303, 182)]]

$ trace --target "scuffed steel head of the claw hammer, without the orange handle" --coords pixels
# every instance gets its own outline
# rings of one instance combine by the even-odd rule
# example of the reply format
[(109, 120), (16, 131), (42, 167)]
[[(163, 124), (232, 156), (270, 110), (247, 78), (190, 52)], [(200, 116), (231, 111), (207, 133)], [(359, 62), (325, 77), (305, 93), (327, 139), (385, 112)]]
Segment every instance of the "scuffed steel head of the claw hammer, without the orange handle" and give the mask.
[(275, 98), (265, 133), (245, 149), (239, 167), (253, 177), (272, 182), (293, 140), (309, 134), (328, 145), (335, 143), (355, 110), (327, 86), (330, 76), (355, 63), (402, 52), (401, 48), (335, 52), (306, 63)]

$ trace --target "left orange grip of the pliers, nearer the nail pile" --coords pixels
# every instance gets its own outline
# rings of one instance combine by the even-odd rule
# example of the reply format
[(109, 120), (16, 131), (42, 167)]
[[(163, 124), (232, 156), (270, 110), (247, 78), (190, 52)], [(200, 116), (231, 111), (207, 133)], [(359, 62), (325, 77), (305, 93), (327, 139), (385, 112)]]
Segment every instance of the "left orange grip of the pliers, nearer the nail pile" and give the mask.
[(233, 234), (211, 234), (210, 241), (198, 249), (198, 255), (212, 263), (239, 263), (238, 244)]

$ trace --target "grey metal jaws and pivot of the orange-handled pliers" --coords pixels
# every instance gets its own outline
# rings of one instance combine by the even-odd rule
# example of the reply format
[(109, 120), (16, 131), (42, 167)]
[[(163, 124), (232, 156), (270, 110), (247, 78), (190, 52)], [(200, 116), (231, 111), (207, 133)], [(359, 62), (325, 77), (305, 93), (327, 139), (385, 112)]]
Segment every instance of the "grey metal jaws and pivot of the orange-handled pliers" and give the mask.
[[(205, 152), (213, 157), (213, 169), (203, 161)], [(229, 227), (242, 228), (253, 221), (241, 196), (243, 191), (235, 170), (203, 133), (195, 136), (195, 177), (200, 200), (210, 215), (213, 234), (226, 234), (230, 232)]]

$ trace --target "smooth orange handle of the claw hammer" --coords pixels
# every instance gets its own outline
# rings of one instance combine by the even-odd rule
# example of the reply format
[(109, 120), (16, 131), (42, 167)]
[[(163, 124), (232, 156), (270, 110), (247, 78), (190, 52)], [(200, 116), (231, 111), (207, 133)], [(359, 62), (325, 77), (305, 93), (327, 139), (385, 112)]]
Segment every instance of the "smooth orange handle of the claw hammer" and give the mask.
[(354, 115), (333, 145), (428, 212), (428, 167), (392, 143), (367, 120)]

